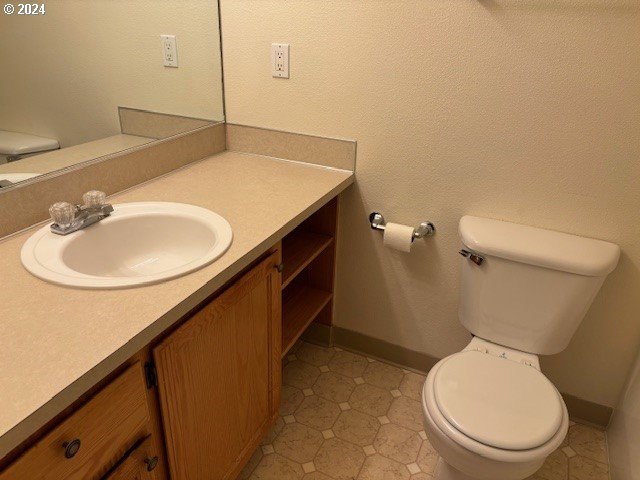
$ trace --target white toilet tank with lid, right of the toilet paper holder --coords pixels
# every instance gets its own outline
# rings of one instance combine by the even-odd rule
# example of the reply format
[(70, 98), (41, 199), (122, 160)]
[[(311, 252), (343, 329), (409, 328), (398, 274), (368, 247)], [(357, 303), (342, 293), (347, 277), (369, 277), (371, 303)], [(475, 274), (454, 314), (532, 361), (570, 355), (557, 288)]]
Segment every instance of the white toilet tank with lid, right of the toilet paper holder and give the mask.
[(465, 216), (459, 316), (474, 335), (549, 355), (566, 348), (620, 248), (609, 242)]

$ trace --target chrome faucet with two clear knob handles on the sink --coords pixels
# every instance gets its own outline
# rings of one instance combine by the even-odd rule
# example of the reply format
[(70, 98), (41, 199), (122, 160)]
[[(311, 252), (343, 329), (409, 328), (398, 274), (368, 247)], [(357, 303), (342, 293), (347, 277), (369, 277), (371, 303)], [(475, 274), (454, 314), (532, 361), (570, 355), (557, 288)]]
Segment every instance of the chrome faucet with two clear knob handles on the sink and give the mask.
[(91, 190), (82, 196), (84, 205), (57, 202), (49, 208), (53, 223), (51, 231), (57, 235), (68, 235), (107, 218), (113, 212), (113, 206), (105, 202), (107, 195)]

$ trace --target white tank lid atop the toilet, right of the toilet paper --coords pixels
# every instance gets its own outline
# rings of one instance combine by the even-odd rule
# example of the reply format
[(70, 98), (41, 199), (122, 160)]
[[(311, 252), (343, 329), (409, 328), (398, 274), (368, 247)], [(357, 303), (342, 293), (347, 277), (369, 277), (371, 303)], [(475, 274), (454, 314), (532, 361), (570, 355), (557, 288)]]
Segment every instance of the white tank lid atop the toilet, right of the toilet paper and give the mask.
[(466, 215), (458, 234), (470, 250), (586, 276), (605, 276), (618, 264), (615, 243)]

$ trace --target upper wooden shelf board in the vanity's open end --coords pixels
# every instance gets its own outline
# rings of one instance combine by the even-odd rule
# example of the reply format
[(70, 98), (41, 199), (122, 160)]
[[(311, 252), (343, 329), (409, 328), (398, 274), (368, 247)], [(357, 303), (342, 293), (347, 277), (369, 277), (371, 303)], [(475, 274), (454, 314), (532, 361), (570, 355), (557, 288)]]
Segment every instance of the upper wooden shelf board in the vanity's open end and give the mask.
[(311, 263), (322, 251), (331, 245), (333, 237), (319, 233), (294, 230), (282, 240), (284, 270), (282, 288)]

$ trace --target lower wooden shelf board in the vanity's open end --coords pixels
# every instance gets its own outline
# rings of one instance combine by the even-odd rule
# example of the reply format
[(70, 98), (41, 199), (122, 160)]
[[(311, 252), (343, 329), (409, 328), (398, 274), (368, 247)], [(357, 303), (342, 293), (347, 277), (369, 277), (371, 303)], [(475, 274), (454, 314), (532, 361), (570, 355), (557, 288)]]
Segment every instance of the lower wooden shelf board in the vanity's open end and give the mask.
[(332, 293), (298, 283), (282, 294), (282, 356), (291, 349), (313, 319), (331, 301)]

